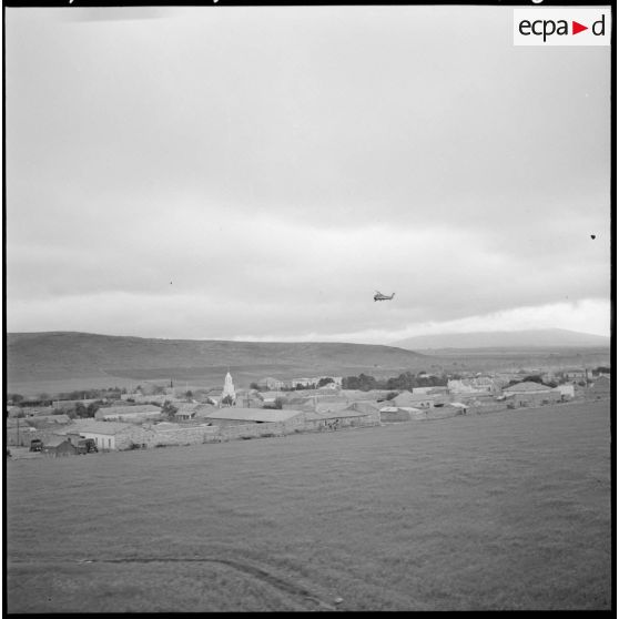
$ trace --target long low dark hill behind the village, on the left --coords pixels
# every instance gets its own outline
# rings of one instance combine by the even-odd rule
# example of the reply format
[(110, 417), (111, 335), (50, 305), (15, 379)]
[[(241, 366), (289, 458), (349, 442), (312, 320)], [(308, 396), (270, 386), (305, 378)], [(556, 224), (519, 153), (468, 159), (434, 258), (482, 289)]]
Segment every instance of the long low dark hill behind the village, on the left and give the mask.
[[(9, 390), (31, 392), (174, 379), (222, 383), (227, 369), (235, 384), (265, 376), (319, 374), (375, 376), (419, 371), (427, 357), (394, 346), (345, 343), (262, 343), (154, 339), (73, 332), (9, 333)], [(62, 386), (61, 386), (62, 385)]]

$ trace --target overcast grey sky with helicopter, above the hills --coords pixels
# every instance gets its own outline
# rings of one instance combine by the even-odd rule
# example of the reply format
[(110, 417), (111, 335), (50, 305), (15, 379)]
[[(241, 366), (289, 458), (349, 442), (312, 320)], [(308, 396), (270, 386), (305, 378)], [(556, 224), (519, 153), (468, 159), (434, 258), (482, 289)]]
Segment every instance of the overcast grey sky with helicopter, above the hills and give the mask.
[(8, 331), (608, 335), (610, 48), (511, 20), (7, 8)]

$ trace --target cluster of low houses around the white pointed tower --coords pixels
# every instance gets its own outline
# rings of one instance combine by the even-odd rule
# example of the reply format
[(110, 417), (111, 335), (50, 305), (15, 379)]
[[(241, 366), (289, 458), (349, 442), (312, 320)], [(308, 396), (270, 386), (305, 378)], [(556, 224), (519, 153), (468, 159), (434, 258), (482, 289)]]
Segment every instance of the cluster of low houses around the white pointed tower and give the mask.
[[(586, 390), (574, 383), (506, 385), (496, 376), (471, 376), (448, 380), (446, 386), (402, 392), (343, 389), (337, 377), (306, 380), (323, 386), (302, 389), (295, 379), (265, 378), (262, 389), (235, 389), (229, 372), (223, 389), (206, 389), (199, 397), (172, 386), (156, 396), (123, 394), (91, 418), (71, 418), (62, 413), (69, 408), (58, 403), (51, 407), (54, 414), (44, 408), (9, 407), (7, 445), (29, 446), (39, 439), (45, 454), (58, 456), (78, 454), (78, 443), (83, 439), (91, 439), (99, 451), (221, 443), (537, 407), (610, 394), (610, 377), (605, 375)], [(294, 390), (288, 387), (292, 384)]]

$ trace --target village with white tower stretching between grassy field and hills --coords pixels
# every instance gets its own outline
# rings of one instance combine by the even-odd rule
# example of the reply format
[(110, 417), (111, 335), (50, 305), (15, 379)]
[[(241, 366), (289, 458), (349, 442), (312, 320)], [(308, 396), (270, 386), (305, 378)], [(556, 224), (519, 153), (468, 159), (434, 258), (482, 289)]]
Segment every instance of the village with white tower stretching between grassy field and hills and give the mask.
[[(372, 388), (403, 380), (424, 386)], [(248, 388), (236, 388), (227, 372), (223, 387), (193, 390), (170, 380), (108, 389), (103, 397), (84, 394), (82, 399), (45, 402), (9, 395), (7, 455), (13, 459), (59, 457), (283, 437), (608, 397), (607, 367), (538, 374), (530, 369), (455, 376), (406, 373), (383, 383), (364, 374), (266, 377)]]

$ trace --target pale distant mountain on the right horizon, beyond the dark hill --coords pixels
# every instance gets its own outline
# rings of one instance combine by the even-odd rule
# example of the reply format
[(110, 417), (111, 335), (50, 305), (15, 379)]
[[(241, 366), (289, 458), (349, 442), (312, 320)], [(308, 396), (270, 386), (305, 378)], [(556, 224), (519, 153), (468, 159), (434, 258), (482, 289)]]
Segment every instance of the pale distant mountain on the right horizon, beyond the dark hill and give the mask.
[(546, 328), (417, 335), (392, 342), (390, 345), (414, 351), (430, 348), (609, 347), (610, 337), (562, 328)]

